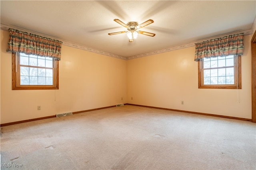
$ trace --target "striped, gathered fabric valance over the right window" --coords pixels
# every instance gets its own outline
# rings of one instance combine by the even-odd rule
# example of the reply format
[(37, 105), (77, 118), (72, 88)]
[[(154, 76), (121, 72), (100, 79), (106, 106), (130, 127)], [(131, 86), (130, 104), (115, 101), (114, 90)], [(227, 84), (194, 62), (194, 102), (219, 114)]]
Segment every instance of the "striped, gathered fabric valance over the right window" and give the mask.
[(244, 33), (225, 36), (196, 43), (195, 61), (210, 57), (242, 55), (244, 53)]

